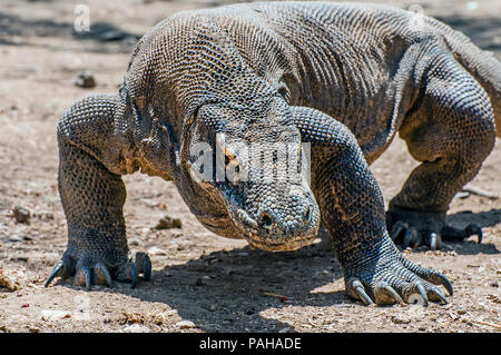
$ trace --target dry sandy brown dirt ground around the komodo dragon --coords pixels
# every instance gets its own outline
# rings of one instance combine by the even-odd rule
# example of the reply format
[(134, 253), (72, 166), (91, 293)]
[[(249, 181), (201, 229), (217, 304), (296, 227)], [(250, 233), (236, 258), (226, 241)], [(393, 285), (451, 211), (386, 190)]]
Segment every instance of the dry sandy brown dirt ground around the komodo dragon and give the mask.
[[(91, 31), (73, 31), (77, 3), (90, 9)], [(391, 3), (391, 2), (386, 2)], [(294, 253), (252, 250), (217, 237), (188, 213), (176, 187), (139, 174), (125, 177), (129, 245), (150, 250), (151, 280), (131, 289), (45, 288), (66, 248), (57, 191), (56, 125), (65, 108), (91, 92), (116, 92), (137, 38), (184, 9), (217, 1), (21, 1), (0, 6), (0, 332), (500, 332), (501, 199), (455, 199), (450, 219), (477, 221), (474, 238), (442, 250), (405, 252), (445, 274), (450, 304), (365, 307), (344, 293), (342, 270), (325, 237)], [(409, 8), (412, 2), (394, 2)], [(501, 3), (421, 2), (501, 58)], [(73, 78), (92, 71), (97, 86)], [(395, 140), (372, 169), (386, 201), (416, 165)], [(472, 185), (501, 196), (501, 145)], [(30, 224), (16, 223), (20, 205)], [(180, 229), (156, 230), (164, 216)], [(154, 248), (154, 249), (151, 249)]]

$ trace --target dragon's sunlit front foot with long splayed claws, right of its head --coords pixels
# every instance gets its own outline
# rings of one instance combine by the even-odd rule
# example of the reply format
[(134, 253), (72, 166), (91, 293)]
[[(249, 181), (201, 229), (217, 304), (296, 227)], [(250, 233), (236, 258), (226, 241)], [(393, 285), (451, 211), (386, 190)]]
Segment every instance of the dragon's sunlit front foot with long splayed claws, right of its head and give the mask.
[(435, 286), (443, 285), (452, 296), (452, 285), (445, 276), (409, 262), (394, 245), (385, 248), (390, 252), (381, 257), (345, 268), (345, 286), (350, 297), (366, 305), (419, 303), (428, 306), (429, 299), (448, 303)]

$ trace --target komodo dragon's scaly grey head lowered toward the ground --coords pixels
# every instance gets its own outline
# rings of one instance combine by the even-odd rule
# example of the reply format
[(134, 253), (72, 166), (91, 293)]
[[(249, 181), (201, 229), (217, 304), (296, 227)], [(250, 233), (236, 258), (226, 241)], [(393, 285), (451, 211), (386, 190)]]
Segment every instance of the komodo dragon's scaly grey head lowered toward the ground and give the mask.
[(224, 216), (219, 223), (199, 217), (207, 228), (271, 252), (312, 243), (320, 211), (308, 186), (308, 149), (291, 121), (278, 96), (196, 110), (185, 141), (186, 175)]

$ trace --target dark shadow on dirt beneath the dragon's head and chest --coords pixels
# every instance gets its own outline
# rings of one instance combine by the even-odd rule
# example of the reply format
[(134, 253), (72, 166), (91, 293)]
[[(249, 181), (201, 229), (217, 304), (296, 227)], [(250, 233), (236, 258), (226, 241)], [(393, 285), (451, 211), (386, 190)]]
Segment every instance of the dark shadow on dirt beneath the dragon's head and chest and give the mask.
[(204, 332), (276, 332), (291, 325), (261, 312), (353, 305), (344, 290), (315, 292), (340, 278), (341, 266), (322, 243), (295, 253), (272, 254), (248, 247), (215, 252), (154, 272), (150, 282), (134, 290), (125, 284), (117, 284), (115, 290), (164, 303)]

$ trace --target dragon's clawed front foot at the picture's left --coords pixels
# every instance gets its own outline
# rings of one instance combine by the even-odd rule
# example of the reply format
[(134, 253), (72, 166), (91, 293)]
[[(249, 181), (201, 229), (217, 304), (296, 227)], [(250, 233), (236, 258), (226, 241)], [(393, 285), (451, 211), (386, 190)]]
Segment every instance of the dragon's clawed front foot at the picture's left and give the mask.
[(151, 262), (146, 253), (136, 253), (134, 259), (127, 256), (118, 262), (110, 263), (110, 259), (106, 256), (97, 257), (94, 253), (79, 253), (78, 257), (75, 257), (67, 250), (47, 278), (46, 287), (58, 276), (62, 279), (75, 276), (75, 285), (86, 286), (87, 290), (92, 284), (111, 287), (114, 279), (128, 282), (134, 288), (139, 274), (143, 274), (146, 280), (151, 275)]

